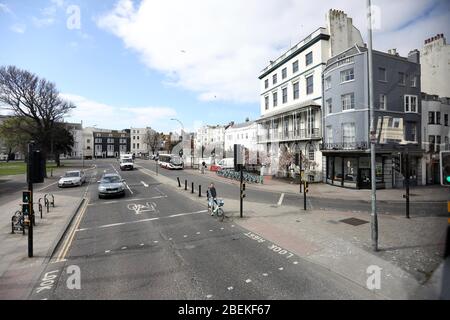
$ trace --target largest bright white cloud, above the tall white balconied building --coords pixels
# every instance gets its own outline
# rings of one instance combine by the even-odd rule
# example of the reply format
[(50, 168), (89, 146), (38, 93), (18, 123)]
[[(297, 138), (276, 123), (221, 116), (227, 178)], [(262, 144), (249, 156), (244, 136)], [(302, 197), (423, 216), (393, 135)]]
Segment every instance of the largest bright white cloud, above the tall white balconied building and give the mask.
[[(448, 30), (448, 12), (435, 12), (396, 31), (431, 3), (373, 1), (381, 8), (374, 47), (397, 47), (405, 55), (428, 34)], [(167, 82), (198, 93), (201, 100), (256, 102), (261, 69), (290, 44), (325, 26), (330, 8), (344, 10), (366, 34), (361, 0), (119, 0), (97, 24), (121, 38), (146, 66), (165, 74)]]

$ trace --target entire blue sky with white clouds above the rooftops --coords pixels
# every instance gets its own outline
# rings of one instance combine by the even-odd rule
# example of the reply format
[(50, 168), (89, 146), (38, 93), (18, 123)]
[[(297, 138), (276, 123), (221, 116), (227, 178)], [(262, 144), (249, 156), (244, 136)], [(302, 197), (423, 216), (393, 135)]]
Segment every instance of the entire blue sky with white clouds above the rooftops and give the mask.
[[(158, 131), (259, 116), (259, 71), (342, 9), (365, 36), (364, 1), (0, 0), (0, 65), (56, 83), (77, 110), (68, 121)], [(450, 37), (447, 1), (373, 1), (374, 47), (403, 55)], [(80, 28), (69, 29), (70, 6)], [(398, 12), (403, 15), (398, 15)], [(392, 18), (391, 18), (392, 17)], [(411, 35), (414, 34), (414, 37)]]

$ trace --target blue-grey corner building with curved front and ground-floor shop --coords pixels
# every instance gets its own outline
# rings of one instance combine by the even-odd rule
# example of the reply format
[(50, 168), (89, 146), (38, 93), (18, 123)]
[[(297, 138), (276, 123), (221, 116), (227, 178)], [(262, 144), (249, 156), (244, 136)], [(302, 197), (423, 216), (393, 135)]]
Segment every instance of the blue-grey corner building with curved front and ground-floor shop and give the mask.
[[(421, 182), (419, 52), (373, 51), (377, 188), (403, 185), (393, 158), (408, 150), (412, 183)], [(370, 188), (370, 118), (367, 49), (353, 46), (329, 59), (323, 71), (324, 181)]]

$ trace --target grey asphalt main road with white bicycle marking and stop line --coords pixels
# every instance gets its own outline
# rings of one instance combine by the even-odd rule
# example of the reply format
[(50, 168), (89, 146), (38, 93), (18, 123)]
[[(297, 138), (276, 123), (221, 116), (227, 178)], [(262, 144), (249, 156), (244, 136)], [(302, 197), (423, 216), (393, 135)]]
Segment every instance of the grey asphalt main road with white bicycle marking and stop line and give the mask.
[[(374, 298), (292, 253), (278, 254), (276, 244), (233, 221), (217, 221), (140, 169), (120, 172), (124, 198), (98, 199), (95, 181), (117, 170), (116, 161), (102, 160), (89, 172), (85, 205), (30, 299)], [(67, 285), (72, 268), (80, 271), (79, 290)]]

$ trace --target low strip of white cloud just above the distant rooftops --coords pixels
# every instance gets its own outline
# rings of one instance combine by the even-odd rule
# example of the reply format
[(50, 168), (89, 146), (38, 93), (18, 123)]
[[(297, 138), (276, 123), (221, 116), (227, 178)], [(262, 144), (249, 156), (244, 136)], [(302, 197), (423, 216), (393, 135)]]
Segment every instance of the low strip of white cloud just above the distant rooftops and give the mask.
[(61, 94), (61, 97), (76, 105), (66, 121), (82, 120), (85, 125), (96, 124), (99, 128), (125, 129), (151, 126), (157, 130), (166, 130), (168, 128), (166, 125), (173, 125), (170, 124), (170, 118), (176, 116), (176, 111), (169, 107), (121, 107), (74, 94)]

